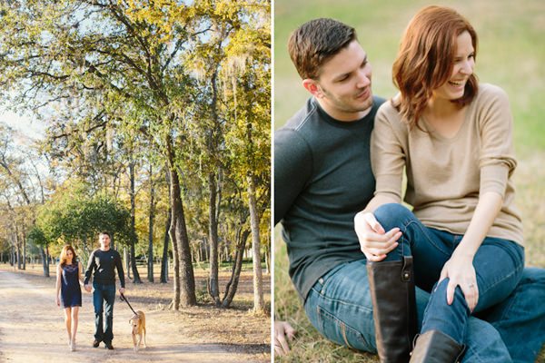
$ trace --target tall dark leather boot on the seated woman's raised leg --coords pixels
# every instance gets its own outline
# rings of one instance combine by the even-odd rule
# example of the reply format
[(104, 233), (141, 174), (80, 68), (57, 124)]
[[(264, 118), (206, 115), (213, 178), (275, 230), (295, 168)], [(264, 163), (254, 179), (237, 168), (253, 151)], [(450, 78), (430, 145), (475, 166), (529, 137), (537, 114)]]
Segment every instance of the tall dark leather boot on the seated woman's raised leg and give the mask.
[(412, 257), (367, 262), (377, 350), (382, 363), (408, 362), (416, 335)]

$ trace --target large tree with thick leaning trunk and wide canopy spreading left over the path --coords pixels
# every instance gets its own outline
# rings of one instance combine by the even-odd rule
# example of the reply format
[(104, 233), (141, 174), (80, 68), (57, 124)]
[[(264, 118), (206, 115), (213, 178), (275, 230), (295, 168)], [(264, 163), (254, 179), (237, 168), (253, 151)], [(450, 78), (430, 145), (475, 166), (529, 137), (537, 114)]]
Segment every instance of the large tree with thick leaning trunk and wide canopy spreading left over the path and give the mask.
[(35, 0), (25, 7), (11, 3), (0, 20), (7, 30), (2, 35), (0, 83), (4, 90), (22, 90), (4, 95), (52, 123), (55, 136), (66, 134), (65, 142), (75, 141), (74, 150), (84, 162), (90, 148), (91, 155), (107, 153), (106, 140), (87, 142), (95, 130), (134, 129), (154, 139), (170, 176), (170, 237), (177, 257), (174, 270), (181, 267), (183, 287), (176, 276), (177, 309), (180, 299), (183, 305), (195, 303), (177, 166), (181, 162), (177, 143), (183, 142), (177, 111), (190, 100), (183, 87), (190, 81), (177, 57), (189, 37), (201, 30), (193, 24), (193, 12), (172, 5), (179, 23), (165, 28), (146, 21), (148, 15), (134, 2)]

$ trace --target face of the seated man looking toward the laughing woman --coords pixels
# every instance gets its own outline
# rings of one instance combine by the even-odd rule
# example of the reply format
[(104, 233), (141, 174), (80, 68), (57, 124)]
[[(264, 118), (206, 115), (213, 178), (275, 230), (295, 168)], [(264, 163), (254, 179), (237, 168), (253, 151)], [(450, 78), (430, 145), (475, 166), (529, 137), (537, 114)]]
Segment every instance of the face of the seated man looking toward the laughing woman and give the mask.
[[(354, 40), (322, 64), (318, 80), (310, 81), (305, 88), (314, 94), (323, 110), (334, 119), (355, 121), (371, 110), (371, 76), (367, 54)], [(315, 92), (312, 92), (312, 87)]]

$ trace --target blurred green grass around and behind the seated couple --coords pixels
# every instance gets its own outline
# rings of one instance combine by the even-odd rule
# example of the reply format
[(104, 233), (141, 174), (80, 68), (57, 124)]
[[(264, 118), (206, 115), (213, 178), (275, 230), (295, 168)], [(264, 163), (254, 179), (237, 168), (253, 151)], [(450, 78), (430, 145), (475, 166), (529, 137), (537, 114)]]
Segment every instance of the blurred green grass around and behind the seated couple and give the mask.
[[(308, 97), (286, 50), (296, 26), (316, 17), (332, 17), (353, 25), (373, 67), (373, 93), (390, 97), (391, 63), (403, 29), (423, 5), (415, 0), (355, 1), (276, 0), (274, 3), (274, 127), (282, 126)], [(526, 236), (528, 266), (545, 268), (545, 3), (529, 0), (523, 5), (507, 0), (437, 1), (465, 15), (480, 36), (475, 68), (481, 82), (500, 85), (510, 95), (515, 149), (519, 166), (514, 176), (517, 206)], [(278, 319), (298, 330), (292, 354), (278, 362), (378, 362), (378, 358), (333, 344), (312, 328), (287, 273), (288, 260), (280, 230), (274, 230), (274, 309)], [(545, 362), (542, 349), (539, 362)]]

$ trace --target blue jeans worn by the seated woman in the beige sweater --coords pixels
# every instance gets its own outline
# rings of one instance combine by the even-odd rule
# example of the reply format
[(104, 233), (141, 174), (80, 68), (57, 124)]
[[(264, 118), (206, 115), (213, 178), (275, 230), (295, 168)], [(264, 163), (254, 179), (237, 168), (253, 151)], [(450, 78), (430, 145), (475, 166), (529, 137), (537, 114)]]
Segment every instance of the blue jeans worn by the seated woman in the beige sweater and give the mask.
[[(385, 260), (401, 260), (402, 255), (412, 255), (416, 285), (431, 290), (421, 333), (439, 329), (463, 344), (466, 320), (471, 315), (463, 292), (459, 286), (456, 287), (449, 305), (446, 299), (449, 279), (436, 283), (443, 265), (451, 258), (463, 236), (425, 227), (401, 204), (384, 204), (374, 214), (385, 231), (397, 227), (402, 233), (398, 247), (388, 253)], [(473, 257), (473, 268), (479, 288), (475, 313), (496, 305), (515, 289), (524, 269), (524, 249), (510, 240), (487, 237)]]

